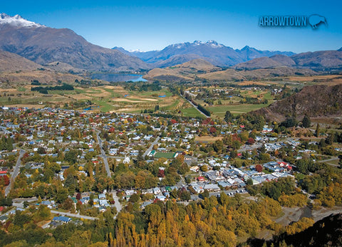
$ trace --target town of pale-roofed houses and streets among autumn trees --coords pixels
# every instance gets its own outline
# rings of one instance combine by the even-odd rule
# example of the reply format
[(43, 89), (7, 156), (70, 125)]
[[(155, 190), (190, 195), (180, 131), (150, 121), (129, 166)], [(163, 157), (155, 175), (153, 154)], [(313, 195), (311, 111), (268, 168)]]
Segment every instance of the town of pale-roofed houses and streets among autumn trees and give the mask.
[[(11, 222), (28, 208), (37, 211), (43, 228), (56, 228), (101, 214), (115, 219), (123, 209), (144, 211), (157, 201), (187, 205), (222, 193), (256, 199), (258, 184), (299, 182), (327, 155), (318, 154), (318, 147), (333, 143), (323, 132), (316, 133), (323, 143), (300, 140), (254, 117), (243, 122), (227, 112), (225, 120), (214, 122), (2, 107), (1, 222), (10, 222), (6, 228), (14, 231), (18, 225)], [(338, 159), (341, 149), (329, 150), (323, 151), (330, 152), (329, 160)], [(304, 206), (307, 200), (334, 206), (307, 184), (301, 188), (289, 195), (263, 193), (283, 206)]]

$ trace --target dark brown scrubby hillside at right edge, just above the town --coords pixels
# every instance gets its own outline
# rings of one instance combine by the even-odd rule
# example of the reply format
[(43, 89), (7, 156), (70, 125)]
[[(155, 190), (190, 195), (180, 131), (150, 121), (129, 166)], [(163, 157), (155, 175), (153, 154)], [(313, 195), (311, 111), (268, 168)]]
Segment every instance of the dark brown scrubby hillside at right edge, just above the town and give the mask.
[(268, 120), (285, 120), (288, 116), (302, 119), (309, 117), (341, 117), (342, 84), (312, 85), (304, 87), (299, 93), (279, 100), (269, 107), (254, 113), (264, 115)]

